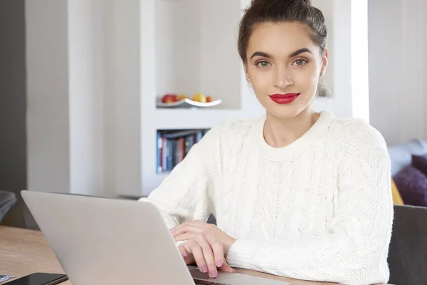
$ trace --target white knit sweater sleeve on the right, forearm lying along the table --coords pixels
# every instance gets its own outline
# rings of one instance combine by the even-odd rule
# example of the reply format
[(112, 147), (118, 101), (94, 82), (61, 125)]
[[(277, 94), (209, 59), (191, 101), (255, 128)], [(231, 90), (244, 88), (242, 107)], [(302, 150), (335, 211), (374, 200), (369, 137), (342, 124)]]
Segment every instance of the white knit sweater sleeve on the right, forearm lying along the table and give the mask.
[(228, 264), (310, 281), (386, 283), (393, 219), (390, 161), (384, 138), (375, 130), (367, 137), (342, 152), (328, 232), (297, 240), (238, 240)]

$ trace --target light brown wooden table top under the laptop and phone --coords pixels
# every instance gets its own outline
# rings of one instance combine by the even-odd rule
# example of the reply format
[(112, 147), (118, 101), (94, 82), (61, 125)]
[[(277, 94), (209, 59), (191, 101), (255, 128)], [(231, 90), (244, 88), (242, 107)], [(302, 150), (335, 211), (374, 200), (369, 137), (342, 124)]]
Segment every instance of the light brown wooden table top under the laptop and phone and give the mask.
[[(300, 281), (260, 272), (236, 269), (239, 273), (288, 281), (292, 285), (326, 285), (332, 283)], [(63, 274), (58, 259), (38, 231), (0, 226), (0, 275), (26, 276), (35, 272)], [(7, 284), (6, 282), (5, 284)], [(72, 285), (65, 281), (61, 285)]]

